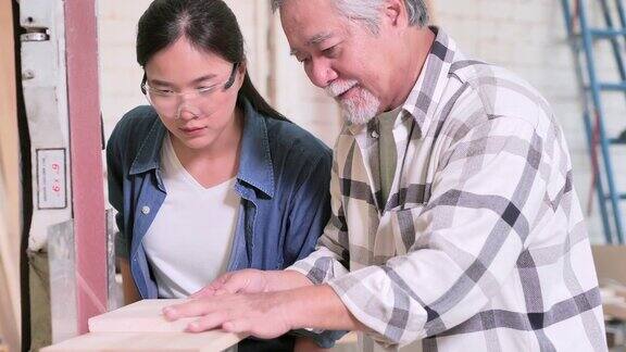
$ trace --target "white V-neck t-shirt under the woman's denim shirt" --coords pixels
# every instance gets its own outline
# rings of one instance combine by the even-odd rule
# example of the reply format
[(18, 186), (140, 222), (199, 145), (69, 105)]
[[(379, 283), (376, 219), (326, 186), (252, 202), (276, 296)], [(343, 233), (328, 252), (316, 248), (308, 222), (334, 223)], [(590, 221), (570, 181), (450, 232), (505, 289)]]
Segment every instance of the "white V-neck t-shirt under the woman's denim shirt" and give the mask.
[(160, 298), (185, 298), (226, 272), (240, 197), (235, 178), (204, 188), (180, 164), (170, 137), (161, 150), (167, 196), (143, 247)]

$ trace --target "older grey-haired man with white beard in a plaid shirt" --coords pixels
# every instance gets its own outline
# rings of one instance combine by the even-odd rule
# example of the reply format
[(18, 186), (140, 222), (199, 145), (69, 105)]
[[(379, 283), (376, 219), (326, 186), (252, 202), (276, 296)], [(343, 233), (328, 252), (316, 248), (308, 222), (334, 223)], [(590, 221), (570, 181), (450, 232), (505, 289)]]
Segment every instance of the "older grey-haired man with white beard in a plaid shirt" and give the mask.
[(368, 350), (605, 350), (567, 147), (546, 100), (427, 27), (422, 0), (274, 7), (292, 54), (346, 115), (334, 216), (290, 269), (228, 274), (166, 316), (259, 337), (360, 330)]

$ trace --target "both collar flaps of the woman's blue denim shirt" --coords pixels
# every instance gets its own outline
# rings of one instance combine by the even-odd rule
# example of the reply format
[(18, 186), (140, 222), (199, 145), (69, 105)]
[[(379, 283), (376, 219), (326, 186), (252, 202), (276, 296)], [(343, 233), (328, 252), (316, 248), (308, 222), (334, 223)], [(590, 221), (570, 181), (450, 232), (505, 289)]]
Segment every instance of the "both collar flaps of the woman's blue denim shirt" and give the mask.
[[(273, 198), (275, 191), (274, 165), (270, 153), (265, 118), (245, 98), (239, 100), (238, 105), (243, 110), (243, 131), (241, 134), (241, 154), (237, 179), (239, 184), (250, 185)], [(152, 112), (156, 115), (154, 111)], [(161, 147), (167, 129), (159, 116), (154, 117), (154, 123), (130, 165), (129, 174), (137, 175), (154, 169), (159, 183), (162, 184), (160, 177)]]

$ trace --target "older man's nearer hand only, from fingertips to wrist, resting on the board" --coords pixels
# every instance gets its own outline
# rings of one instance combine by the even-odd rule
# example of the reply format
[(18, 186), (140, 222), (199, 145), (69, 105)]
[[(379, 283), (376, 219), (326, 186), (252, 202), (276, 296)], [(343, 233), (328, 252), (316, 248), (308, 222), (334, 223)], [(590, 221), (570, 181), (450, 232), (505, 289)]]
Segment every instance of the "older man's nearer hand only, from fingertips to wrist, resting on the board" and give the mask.
[(205, 296), (187, 303), (167, 306), (165, 318), (176, 320), (199, 316), (187, 327), (189, 332), (222, 328), (228, 332), (249, 334), (273, 339), (292, 329), (289, 291), (262, 293), (222, 293)]

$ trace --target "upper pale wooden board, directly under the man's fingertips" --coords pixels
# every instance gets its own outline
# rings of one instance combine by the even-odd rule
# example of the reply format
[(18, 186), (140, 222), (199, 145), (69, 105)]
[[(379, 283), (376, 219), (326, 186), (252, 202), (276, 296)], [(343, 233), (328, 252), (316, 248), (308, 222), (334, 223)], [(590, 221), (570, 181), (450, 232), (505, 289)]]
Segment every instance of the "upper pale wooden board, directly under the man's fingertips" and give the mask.
[(193, 318), (167, 322), (161, 313), (186, 300), (142, 300), (89, 319), (90, 332), (181, 332)]

